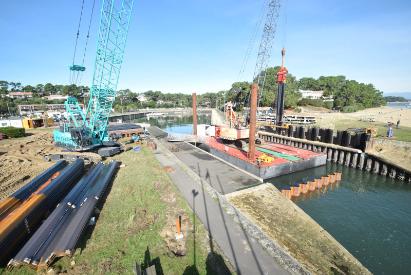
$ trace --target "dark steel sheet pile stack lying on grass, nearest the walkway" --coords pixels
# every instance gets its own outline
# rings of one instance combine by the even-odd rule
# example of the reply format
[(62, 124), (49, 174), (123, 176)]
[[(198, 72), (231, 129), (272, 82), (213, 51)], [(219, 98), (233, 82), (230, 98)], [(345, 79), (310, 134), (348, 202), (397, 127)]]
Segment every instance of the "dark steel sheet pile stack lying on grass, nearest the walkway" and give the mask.
[(116, 160), (94, 164), (6, 269), (27, 265), (38, 271), (46, 269), (55, 257), (72, 258), (117, 165)]

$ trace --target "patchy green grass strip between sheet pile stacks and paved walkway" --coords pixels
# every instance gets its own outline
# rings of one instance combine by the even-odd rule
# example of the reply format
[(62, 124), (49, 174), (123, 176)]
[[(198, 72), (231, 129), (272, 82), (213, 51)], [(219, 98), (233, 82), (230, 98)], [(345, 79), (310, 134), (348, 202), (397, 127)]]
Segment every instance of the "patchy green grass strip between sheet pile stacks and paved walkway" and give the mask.
[[(232, 273), (149, 148), (130, 150), (115, 159), (125, 167), (117, 170), (107, 187), (96, 225), (86, 230), (74, 254), (76, 264), (70, 266), (72, 259), (63, 257), (50, 266), (53, 271), (132, 274), (136, 261), (141, 268), (155, 264), (157, 274)], [(174, 240), (177, 215), (182, 216), (184, 234), (179, 241)], [(177, 256), (167, 248), (167, 232), (173, 233), (168, 239), (171, 245), (185, 244), (186, 255)], [(12, 273), (35, 272), (23, 266)]]

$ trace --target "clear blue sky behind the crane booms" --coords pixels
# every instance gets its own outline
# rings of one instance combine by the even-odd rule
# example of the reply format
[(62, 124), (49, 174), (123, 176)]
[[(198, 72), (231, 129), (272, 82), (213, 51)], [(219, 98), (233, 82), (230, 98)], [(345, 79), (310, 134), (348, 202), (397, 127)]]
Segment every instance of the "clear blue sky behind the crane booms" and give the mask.
[[(119, 0), (117, 0), (119, 1)], [(135, 1), (118, 89), (206, 93), (231, 88), (264, 0)], [(0, 80), (69, 84), (81, 0), (1, 1)], [(283, 2), (284, 4), (284, 2)], [(101, 0), (96, 0), (82, 85), (91, 84)], [(85, 0), (74, 64), (82, 63)], [(284, 9), (269, 66), (281, 65)], [(285, 66), (297, 79), (344, 75), (384, 93), (411, 91), (411, 1), (289, 1)], [(251, 81), (258, 33), (242, 81)]]

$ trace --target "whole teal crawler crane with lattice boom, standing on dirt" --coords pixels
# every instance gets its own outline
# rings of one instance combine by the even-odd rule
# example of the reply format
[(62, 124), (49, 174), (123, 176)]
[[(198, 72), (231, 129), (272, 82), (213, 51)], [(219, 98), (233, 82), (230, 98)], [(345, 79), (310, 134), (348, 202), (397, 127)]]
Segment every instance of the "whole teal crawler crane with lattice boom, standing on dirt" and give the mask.
[[(64, 148), (66, 152), (47, 155), (45, 156), (47, 161), (77, 158), (99, 161), (101, 155), (110, 156), (124, 149), (115, 138), (108, 135), (106, 126), (116, 98), (133, 4), (134, 0), (122, 0), (121, 6), (115, 6), (115, 0), (103, 0), (87, 111), (83, 113), (76, 98), (67, 98), (65, 106), (68, 121), (62, 123), (59, 130), (53, 131), (55, 145)], [(85, 70), (82, 65), (73, 64), (69, 68), (72, 71)], [(96, 152), (98, 154), (95, 154)]]

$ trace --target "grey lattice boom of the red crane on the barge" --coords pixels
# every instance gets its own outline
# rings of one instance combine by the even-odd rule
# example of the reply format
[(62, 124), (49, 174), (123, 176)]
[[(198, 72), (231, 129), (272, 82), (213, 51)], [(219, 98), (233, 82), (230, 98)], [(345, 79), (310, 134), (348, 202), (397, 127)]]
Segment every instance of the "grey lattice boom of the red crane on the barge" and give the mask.
[[(255, 65), (254, 77), (252, 84), (258, 85), (257, 107), (260, 104), (261, 94), (263, 94), (264, 82), (266, 80), (268, 62), (272, 45), (274, 42), (275, 30), (277, 28), (278, 13), (281, 6), (281, 0), (273, 0), (268, 5), (266, 22), (264, 24), (263, 36), (258, 50), (257, 63)], [(250, 95), (248, 96), (248, 105), (250, 105)]]

